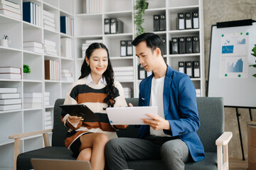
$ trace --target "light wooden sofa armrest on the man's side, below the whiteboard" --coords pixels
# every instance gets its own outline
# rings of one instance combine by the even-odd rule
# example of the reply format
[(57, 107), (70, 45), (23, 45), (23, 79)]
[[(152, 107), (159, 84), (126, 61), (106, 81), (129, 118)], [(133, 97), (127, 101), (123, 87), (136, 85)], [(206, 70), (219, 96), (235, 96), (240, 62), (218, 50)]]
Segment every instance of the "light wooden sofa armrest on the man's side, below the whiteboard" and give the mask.
[[(228, 170), (228, 142), (230, 142), (233, 136), (232, 132), (223, 132), (220, 137), (215, 141), (217, 145), (217, 161), (218, 161), (218, 170)], [(223, 164), (224, 157), (224, 164)]]

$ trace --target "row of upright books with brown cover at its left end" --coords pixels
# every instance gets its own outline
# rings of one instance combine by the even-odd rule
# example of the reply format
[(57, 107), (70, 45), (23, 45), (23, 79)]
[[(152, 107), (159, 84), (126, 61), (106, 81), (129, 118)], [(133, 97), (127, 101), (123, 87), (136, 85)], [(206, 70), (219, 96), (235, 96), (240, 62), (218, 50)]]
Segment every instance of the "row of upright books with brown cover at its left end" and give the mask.
[(60, 80), (60, 61), (45, 60), (45, 79)]

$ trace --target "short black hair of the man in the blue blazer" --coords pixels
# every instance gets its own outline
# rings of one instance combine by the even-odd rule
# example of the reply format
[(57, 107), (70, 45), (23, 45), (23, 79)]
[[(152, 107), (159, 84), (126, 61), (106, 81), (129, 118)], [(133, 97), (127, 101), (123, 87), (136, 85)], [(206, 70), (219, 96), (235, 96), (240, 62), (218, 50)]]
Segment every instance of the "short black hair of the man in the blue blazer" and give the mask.
[(142, 41), (146, 42), (146, 47), (151, 48), (152, 52), (154, 52), (154, 50), (159, 47), (159, 49), (161, 50), (161, 55), (164, 57), (164, 41), (159, 35), (156, 35), (154, 33), (143, 33), (137, 36), (137, 38), (132, 41), (132, 45), (137, 46), (139, 42)]

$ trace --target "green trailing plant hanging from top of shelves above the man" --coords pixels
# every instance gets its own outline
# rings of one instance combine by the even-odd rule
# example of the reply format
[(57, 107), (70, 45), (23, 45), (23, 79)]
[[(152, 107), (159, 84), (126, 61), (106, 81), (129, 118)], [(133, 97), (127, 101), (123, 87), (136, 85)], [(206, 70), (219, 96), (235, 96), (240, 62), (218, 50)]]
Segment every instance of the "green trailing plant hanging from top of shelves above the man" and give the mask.
[(145, 14), (146, 8), (148, 8), (149, 3), (147, 0), (137, 0), (136, 5), (134, 6), (134, 24), (136, 26), (136, 35), (140, 35), (145, 33), (145, 29), (142, 27), (142, 23), (144, 23), (143, 15)]

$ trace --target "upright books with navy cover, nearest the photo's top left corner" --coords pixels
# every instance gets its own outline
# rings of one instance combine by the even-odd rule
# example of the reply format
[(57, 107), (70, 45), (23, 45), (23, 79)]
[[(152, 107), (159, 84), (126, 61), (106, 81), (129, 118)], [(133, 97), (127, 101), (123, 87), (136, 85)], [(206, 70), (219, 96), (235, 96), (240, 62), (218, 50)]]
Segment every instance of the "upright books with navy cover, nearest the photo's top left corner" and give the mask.
[(37, 4), (30, 1), (23, 2), (23, 21), (40, 26), (40, 16), (41, 13)]

